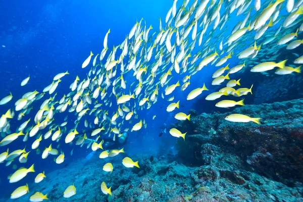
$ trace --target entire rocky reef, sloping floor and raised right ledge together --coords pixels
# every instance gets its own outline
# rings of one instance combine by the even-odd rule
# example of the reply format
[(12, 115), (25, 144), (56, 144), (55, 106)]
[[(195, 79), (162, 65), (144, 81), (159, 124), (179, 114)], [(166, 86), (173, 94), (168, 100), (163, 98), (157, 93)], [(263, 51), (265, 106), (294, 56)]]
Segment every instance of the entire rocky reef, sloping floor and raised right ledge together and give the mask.
[[(303, 201), (303, 99), (250, 105), (231, 113), (262, 117), (262, 124), (232, 123), (228, 114), (191, 111), (190, 121), (174, 127), (187, 131), (176, 143), (177, 155), (119, 154), (114, 158), (78, 159), (30, 183), (28, 201), (35, 191), (48, 193), (48, 201)], [(126, 168), (130, 156), (140, 168)], [(111, 162), (112, 173), (102, 170)], [(105, 181), (112, 196), (100, 189)], [(64, 198), (71, 184), (76, 195)]]

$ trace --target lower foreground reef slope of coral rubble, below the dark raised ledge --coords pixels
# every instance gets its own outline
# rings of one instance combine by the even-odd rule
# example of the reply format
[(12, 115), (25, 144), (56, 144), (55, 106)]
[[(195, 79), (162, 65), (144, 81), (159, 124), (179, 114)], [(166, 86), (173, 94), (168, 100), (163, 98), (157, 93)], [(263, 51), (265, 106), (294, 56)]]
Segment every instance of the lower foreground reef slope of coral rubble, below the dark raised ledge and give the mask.
[[(203, 144), (202, 158), (207, 165), (188, 167), (177, 163), (177, 156), (137, 156), (140, 169), (125, 168), (122, 155), (113, 162), (112, 174), (101, 168), (106, 163), (96, 156), (89, 162), (76, 161), (61, 170), (47, 174), (39, 184), (29, 184), (30, 193), (7, 201), (28, 201), (35, 191), (48, 193), (48, 201), (301, 201), (303, 187), (287, 187), (256, 173), (242, 170), (242, 160), (225, 154), (212, 144)], [(151, 160), (151, 161), (150, 161)], [(112, 196), (100, 190), (106, 181)], [(76, 195), (63, 197), (67, 186), (74, 183)], [(301, 199), (301, 200), (300, 200)], [(6, 200), (4, 200), (6, 201)]]

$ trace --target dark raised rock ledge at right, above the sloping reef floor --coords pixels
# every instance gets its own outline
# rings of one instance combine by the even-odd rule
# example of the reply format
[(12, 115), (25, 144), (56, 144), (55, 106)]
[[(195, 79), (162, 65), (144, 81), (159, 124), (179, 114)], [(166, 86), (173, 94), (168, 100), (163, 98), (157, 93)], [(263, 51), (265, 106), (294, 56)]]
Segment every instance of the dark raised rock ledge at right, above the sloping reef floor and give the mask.
[[(187, 132), (185, 141), (177, 141), (178, 156), (185, 165), (221, 168), (230, 161), (235, 169), (255, 172), (287, 186), (303, 181), (303, 99), (246, 105), (225, 114), (189, 113), (190, 121), (171, 126)], [(262, 124), (229, 122), (224, 119), (229, 114), (262, 118)], [(214, 154), (224, 158), (214, 159)], [(221, 162), (215, 162), (218, 160)], [(233, 177), (229, 179), (234, 181)]]

